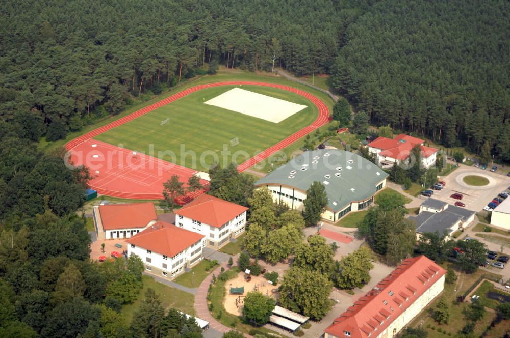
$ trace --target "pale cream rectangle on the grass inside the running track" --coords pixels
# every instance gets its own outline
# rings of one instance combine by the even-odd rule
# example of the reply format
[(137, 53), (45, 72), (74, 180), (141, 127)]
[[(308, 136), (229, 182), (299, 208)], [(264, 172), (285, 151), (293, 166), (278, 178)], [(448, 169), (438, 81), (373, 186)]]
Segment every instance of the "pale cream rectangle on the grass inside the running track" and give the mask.
[(307, 107), (241, 88), (231, 89), (204, 103), (274, 123), (281, 122)]

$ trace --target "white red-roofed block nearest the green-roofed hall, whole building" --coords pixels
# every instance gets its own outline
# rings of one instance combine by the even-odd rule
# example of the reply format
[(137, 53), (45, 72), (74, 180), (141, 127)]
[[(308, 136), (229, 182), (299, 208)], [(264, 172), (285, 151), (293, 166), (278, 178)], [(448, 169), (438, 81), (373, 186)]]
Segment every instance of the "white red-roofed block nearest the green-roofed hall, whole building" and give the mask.
[(246, 227), (248, 208), (203, 194), (175, 213), (175, 225), (206, 236), (207, 245), (220, 248)]

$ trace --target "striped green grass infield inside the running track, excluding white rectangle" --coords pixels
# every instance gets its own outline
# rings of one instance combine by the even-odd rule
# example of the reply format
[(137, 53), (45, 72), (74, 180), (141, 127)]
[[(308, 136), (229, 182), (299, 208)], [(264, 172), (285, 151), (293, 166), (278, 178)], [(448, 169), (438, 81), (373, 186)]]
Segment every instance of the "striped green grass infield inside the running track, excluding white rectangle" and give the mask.
[[(318, 116), (317, 107), (308, 99), (262, 86), (239, 88), (308, 107), (280, 123), (273, 123), (203, 103), (234, 87), (239, 86), (220, 86), (192, 93), (95, 138), (207, 172), (215, 161), (222, 166), (231, 161), (244, 162), (312, 124)], [(239, 144), (231, 146), (235, 138)], [(230, 154), (220, 153), (224, 147)]]

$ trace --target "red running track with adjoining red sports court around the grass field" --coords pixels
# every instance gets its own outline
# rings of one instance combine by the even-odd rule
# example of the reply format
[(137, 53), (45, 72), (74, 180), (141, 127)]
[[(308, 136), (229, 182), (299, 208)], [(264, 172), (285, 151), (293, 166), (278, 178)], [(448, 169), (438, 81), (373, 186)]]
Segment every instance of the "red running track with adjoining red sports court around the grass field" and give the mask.
[[(287, 90), (309, 99), (313, 104), (317, 106), (319, 110), (317, 119), (310, 126), (295, 132), (274, 146), (269, 147), (263, 152), (259, 153), (257, 156), (254, 156), (240, 164), (238, 166), (239, 172), (245, 171), (247, 168), (253, 166), (257, 162), (262, 161), (275, 152), (288, 147), (299, 138), (304, 137), (305, 135), (311, 133), (313, 130), (319, 128), (329, 121), (329, 110), (326, 104), (319, 98), (303, 90), (265, 82), (217, 82), (195, 86), (169, 96), (164, 100), (137, 110), (130, 115), (109, 123), (106, 126), (99, 127), (78, 138), (75, 138), (67, 143), (65, 147), (68, 151), (72, 151), (73, 155), (71, 156), (71, 161), (74, 164), (88, 166), (87, 164), (90, 161), (93, 162), (94, 170), (91, 170), (93, 179), (89, 182), (89, 186), (92, 189), (97, 190), (99, 193), (108, 196), (129, 199), (161, 199), (163, 198), (163, 194), (161, 192), (163, 190), (163, 182), (166, 182), (172, 175), (178, 175), (182, 182), (186, 182), (188, 177), (195, 174), (196, 171), (143, 154), (138, 154), (135, 156), (138, 158), (137, 160), (133, 157), (131, 150), (101, 143), (97, 140), (92, 141), (91, 139), (124, 123), (133, 121), (134, 119), (145, 115), (154, 109), (180, 99), (188, 94), (211, 87), (235, 85), (266, 86)], [(93, 144), (95, 145), (94, 147), (92, 147)], [(98, 153), (99, 151), (103, 153), (100, 154)], [(80, 156), (77, 154), (81, 154), (81, 158), (79, 158)], [(93, 155), (96, 155), (96, 157), (90, 157)], [(160, 169), (158, 172), (154, 172), (148, 168), (148, 165), (140, 165), (140, 162), (137, 161), (155, 164), (155, 166), (159, 167)], [(124, 164), (128, 162), (130, 162), (132, 165), (124, 166)], [(163, 168), (163, 170), (161, 170), (161, 168)], [(96, 171), (99, 172), (97, 175)], [(203, 192), (204, 191), (200, 191), (197, 193), (197, 195)], [(192, 197), (188, 194), (179, 202), (185, 203), (191, 200), (191, 198)]]

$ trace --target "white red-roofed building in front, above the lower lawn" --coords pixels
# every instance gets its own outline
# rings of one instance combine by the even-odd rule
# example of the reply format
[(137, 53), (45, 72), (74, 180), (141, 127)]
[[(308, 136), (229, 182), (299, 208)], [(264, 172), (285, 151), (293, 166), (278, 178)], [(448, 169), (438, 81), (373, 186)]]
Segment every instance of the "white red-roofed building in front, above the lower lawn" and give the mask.
[(140, 257), (145, 270), (168, 279), (200, 262), (205, 236), (158, 220), (126, 240), (127, 255)]

